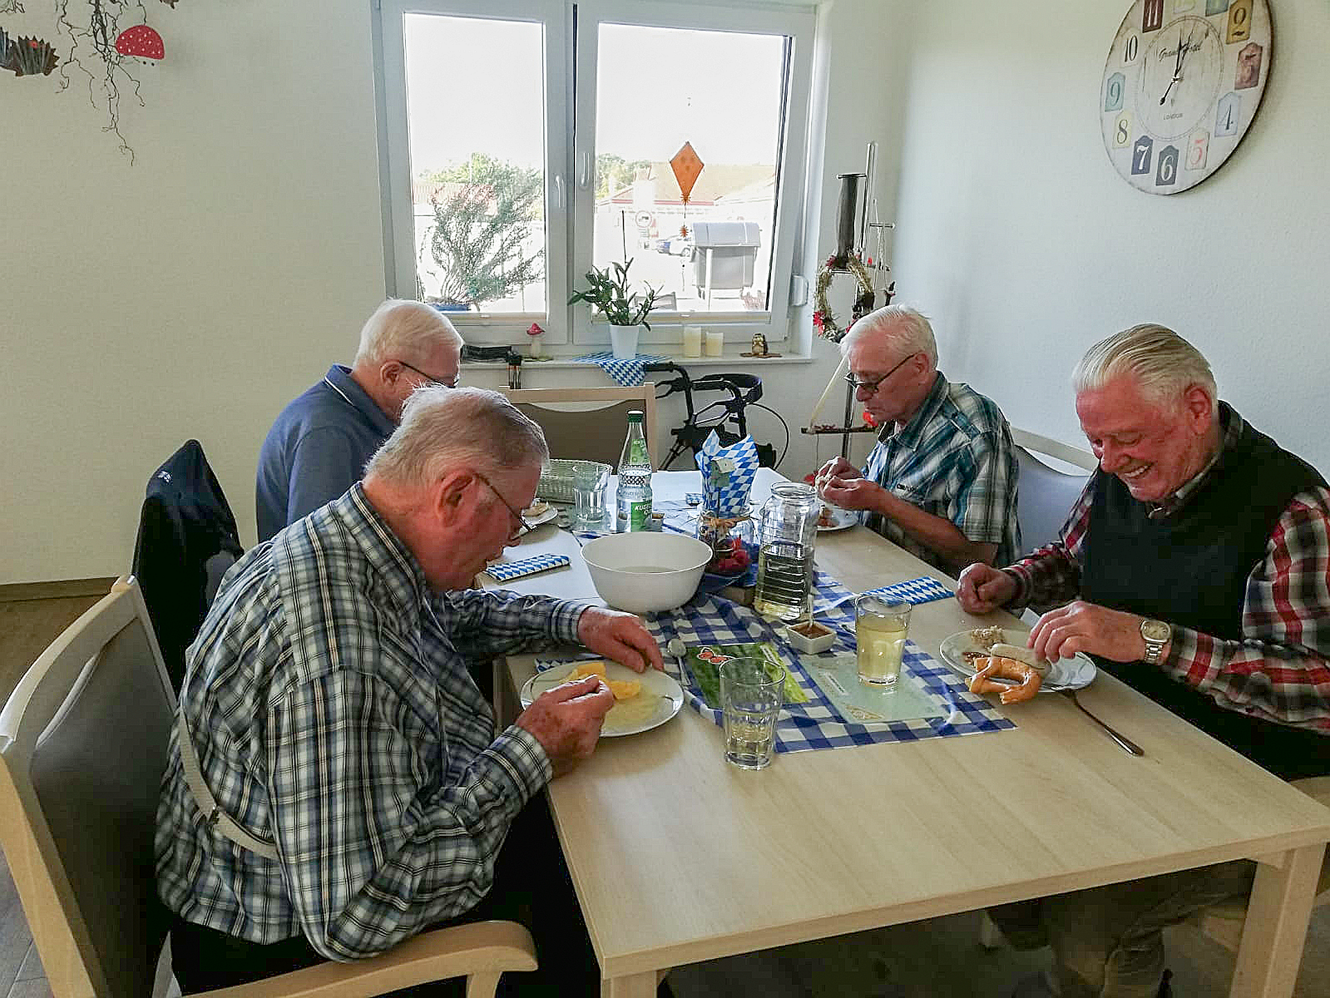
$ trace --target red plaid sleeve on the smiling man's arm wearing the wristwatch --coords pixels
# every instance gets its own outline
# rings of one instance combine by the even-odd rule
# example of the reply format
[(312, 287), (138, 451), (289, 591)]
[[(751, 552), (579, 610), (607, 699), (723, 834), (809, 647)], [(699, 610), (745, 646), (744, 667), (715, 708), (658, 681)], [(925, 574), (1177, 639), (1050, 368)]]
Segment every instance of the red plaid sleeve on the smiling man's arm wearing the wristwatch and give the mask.
[(1275, 524), (1242, 639), (1174, 627), (1162, 667), (1229, 710), (1330, 734), (1330, 490), (1294, 496)]

